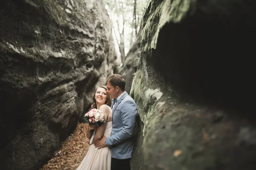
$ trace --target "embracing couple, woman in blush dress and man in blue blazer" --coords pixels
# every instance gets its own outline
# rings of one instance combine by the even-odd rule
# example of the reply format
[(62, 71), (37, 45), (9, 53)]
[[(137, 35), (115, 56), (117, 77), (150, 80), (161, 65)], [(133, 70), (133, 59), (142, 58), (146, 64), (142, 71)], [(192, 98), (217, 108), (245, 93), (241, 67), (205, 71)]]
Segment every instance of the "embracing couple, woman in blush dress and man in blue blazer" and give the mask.
[(121, 75), (113, 74), (107, 87), (96, 88), (91, 108), (102, 111), (105, 123), (89, 125), (87, 138), (92, 138), (94, 129), (96, 133), (77, 170), (130, 170), (137, 105), (125, 92), (125, 84)]

